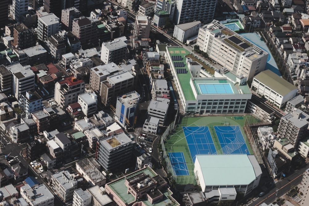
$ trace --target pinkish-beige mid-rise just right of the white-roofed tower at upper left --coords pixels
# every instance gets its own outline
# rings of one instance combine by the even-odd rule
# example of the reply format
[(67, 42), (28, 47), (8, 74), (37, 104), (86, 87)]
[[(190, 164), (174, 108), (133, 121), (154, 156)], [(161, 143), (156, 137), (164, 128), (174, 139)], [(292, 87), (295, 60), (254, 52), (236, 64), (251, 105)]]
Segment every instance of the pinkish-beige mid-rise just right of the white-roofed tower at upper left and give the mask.
[(72, 31), (73, 19), (81, 17), (82, 13), (75, 7), (61, 10), (61, 26), (66, 31)]

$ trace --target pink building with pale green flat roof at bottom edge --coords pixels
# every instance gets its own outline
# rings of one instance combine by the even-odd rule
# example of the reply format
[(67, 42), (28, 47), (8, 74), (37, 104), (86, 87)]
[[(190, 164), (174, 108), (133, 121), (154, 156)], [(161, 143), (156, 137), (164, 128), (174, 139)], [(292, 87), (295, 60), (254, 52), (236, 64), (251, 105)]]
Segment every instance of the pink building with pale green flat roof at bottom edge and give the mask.
[(105, 190), (119, 205), (160, 205), (166, 200), (170, 206), (180, 205), (171, 196), (167, 182), (149, 166), (107, 183)]

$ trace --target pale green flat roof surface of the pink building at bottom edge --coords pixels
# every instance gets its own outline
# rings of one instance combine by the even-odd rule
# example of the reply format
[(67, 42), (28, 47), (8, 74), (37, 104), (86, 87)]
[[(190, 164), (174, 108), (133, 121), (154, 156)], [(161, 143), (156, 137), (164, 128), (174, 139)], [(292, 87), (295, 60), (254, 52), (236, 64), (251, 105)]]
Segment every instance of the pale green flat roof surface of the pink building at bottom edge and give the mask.
[[(120, 179), (115, 180), (114, 182), (108, 183), (108, 186), (121, 198), (121, 200), (125, 203), (125, 204), (129, 204), (134, 202), (134, 197), (133, 195), (131, 195), (130, 193), (127, 193), (128, 187), (125, 186), (125, 179), (133, 177), (137, 174), (141, 174), (141, 173), (145, 173), (146, 175), (148, 174), (150, 177), (154, 177), (157, 174), (151, 170), (149, 168), (149, 166), (146, 166), (145, 168), (138, 170), (136, 172), (133, 172), (129, 175), (127, 175), (126, 177), (122, 177)], [(162, 191), (162, 190), (161, 190)], [(179, 205), (177, 202), (174, 202), (174, 204), (171, 204), (171, 201), (169, 200), (168, 196), (169, 194), (171, 194), (171, 192), (169, 192), (168, 190), (166, 191), (162, 191), (162, 193), (165, 195), (165, 197), (163, 197), (163, 200), (160, 202), (157, 202), (155, 204), (150, 204), (150, 202), (148, 200), (144, 200), (143, 203), (146, 205), (151, 205), (151, 206), (173, 206), (173, 205)], [(173, 199), (174, 200), (174, 199)]]

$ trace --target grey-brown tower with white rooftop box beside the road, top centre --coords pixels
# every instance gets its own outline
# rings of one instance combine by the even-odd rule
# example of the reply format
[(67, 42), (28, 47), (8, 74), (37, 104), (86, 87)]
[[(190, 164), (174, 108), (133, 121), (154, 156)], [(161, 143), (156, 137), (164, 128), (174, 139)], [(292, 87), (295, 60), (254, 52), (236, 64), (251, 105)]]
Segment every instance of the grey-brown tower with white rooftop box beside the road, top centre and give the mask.
[(139, 40), (148, 39), (151, 29), (151, 19), (147, 16), (139, 16), (135, 17), (135, 23), (133, 28), (133, 36), (137, 37)]

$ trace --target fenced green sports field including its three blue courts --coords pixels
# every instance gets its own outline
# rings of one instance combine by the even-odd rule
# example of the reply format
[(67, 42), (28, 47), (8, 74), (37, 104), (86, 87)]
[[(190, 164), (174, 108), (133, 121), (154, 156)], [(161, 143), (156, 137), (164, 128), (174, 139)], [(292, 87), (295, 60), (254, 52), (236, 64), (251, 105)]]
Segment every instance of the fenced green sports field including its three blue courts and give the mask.
[(164, 140), (164, 146), (177, 184), (193, 183), (197, 154), (253, 154), (243, 131), (245, 120), (253, 116), (183, 117)]

